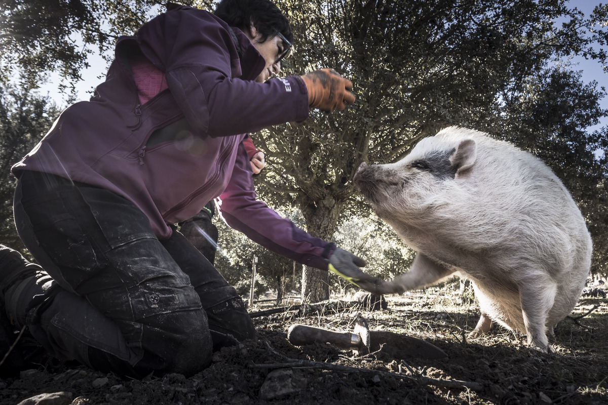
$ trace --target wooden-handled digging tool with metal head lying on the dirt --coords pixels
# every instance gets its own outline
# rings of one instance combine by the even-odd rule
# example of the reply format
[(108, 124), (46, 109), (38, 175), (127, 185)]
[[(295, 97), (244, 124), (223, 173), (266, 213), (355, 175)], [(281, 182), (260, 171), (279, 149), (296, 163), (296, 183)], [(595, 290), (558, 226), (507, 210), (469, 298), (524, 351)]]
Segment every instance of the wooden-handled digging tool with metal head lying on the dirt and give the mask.
[(364, 318), (357, 320), (352, 333), (294, 324), (289, 327), (287, 339), (297, 346), (315, 342), (331, 343), (340, 349), (355, 350), (358, 355), (379, 351), (396, 359), (447, 357), (443, 350), (422, 339), (384, 330), (370, 331)]

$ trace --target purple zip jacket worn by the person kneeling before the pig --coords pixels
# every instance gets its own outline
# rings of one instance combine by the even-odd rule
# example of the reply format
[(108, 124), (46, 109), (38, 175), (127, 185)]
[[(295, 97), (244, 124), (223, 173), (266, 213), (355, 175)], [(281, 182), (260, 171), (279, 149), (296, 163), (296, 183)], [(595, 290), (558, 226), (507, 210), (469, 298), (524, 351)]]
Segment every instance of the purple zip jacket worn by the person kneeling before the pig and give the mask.
[[(168, 89), (140, 105), (130, 58), (145, 56)], [(325, 270), (328, 243), (255, 199), (244, 134), (308, 118), (300, 77), (253, 81), (264, 59), (244, 33), (204, 10), (167, 13), (122, 36), (106, 80), (89, 101), (63, 111), (49, 133), (13, 166), (57, 174), (116, 192), (150, 219), (159, 239), (168, 224), (220, 197), (233, 228), (278, 254)]]

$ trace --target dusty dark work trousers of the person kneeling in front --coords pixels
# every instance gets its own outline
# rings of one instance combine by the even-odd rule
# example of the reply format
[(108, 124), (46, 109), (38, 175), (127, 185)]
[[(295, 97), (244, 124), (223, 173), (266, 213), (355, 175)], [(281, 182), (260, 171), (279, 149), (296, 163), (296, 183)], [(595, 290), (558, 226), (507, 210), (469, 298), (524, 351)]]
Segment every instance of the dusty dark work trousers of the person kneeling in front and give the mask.
[(255, 335), (209, 261), (177, 231), (158, 240), (142, 211), (113, 192), (26, 171), (15, 223), (50, 276), (20, 288), (18, 307), (52, 356), (119, 375), (192, 375), (209, 365), (212, 347)]

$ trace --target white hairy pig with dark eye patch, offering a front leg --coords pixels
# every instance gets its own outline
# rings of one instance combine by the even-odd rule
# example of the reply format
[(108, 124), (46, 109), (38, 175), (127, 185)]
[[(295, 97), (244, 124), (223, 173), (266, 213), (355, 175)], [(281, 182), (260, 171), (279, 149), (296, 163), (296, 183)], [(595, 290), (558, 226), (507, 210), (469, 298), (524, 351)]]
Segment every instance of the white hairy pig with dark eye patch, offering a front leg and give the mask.
[(407, 273), (361, 282), (401, 293), (459, 275), (471, 279), (481, 316), (550, 352), (553, 327), (578, 302), (592, 242), (576, 203), (539, 158), (483, 132), (451, 127), (396, 163), (362, 163), (354, 175), (378, 216), (416, 251)]

